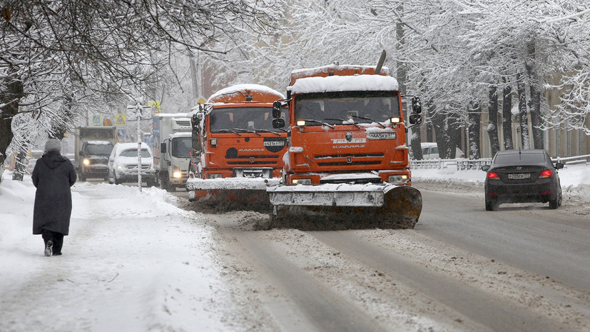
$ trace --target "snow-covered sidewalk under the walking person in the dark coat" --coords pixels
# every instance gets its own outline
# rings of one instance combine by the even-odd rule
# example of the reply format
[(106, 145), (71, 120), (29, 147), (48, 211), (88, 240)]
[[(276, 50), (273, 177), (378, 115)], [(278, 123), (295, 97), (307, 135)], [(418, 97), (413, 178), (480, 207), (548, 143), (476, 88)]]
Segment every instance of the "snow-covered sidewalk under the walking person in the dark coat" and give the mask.
[(213, 229), (158, 188), (73, 186), (63, 256), (31, 234), (30, 178), (0, 186), (0, 331), (230, 331)]

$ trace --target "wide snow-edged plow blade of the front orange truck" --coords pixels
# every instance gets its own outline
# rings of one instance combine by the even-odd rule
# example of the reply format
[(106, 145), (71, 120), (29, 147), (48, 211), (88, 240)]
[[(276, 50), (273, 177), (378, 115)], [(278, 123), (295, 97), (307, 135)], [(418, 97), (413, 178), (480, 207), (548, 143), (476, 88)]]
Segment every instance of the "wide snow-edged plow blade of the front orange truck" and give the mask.
[(414, 228), (422, 195), (410, 186), (330, 184), (268, 188), (271, 227), (301, 230)]

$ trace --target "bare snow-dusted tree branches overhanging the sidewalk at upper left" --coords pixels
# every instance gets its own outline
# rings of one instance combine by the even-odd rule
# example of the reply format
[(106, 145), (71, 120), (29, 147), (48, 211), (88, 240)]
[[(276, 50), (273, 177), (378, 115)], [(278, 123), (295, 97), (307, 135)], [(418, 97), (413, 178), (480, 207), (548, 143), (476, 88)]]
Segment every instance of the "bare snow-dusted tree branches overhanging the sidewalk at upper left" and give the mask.
[[(280, 13), (257, 0), (34, 1), (1, 4), (0, 153), (17, 114), (45, 114), (51, 136), (86, 98), (151, 96), (179, 52), (223, 34), (268, 29)], [(65, 121), (63, 119), (66, 119)], [(49, 126), (49, 125), (46, 125)], [(1, 158), (1, 157), (0, 157)], [(1, 161), (0, 161), (0, 164)]]

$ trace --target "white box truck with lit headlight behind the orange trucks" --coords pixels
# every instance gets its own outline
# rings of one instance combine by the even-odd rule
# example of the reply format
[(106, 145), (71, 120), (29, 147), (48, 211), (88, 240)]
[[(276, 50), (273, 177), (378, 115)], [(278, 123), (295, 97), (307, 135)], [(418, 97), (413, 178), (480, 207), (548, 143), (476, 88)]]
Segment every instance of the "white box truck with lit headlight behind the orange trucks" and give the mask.
[(163, 189), (185, 188), (192, 148), (190, 118), (185, 113), (153, 114), (151, 146), (156, 178)]

